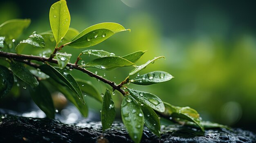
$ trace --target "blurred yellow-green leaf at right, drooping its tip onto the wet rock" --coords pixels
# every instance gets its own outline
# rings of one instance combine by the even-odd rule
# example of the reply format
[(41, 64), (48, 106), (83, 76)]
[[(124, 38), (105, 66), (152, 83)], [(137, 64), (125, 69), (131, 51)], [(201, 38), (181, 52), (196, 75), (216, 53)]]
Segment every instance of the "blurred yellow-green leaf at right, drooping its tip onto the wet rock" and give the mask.
[(164, 114), (173, 118), (185, 119), (196, 123), (202, 131), (204, 126), (201, 124), (200, 115), (198, 112), (190, 107), (178, 107), (164, 102), (165, 111)]

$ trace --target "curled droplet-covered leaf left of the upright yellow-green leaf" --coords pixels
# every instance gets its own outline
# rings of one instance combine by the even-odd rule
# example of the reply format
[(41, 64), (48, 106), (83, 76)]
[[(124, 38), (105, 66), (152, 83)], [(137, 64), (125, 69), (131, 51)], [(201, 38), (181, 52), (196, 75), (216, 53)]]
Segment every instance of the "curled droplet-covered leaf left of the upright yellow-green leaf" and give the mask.
[(26, 50), (25, 53), (30, 54), (34, 50), (34, 47), (45, 48), (45, 40), (41, 35), (33, 32), (27, 40), (20, 41), (20, 44), (18, 44), (15, 48), (16, 53), (22, 53), (26, 47), (30, 48), (29, 50)]

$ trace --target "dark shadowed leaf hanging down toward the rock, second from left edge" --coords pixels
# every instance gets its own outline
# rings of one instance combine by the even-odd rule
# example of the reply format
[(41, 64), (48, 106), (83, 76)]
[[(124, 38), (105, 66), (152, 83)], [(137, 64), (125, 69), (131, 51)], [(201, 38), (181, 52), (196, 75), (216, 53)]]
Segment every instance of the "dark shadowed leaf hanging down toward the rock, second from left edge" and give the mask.
[(54, 119), (55, 116), (55, 108), (52, 101), (51, 93), (48, 89), (43, 85), (42, 82), (39, 82), (39, 85), (35, 89), (30, 90), (30, 95), (36, 105), (45, 112), (48, 118)]

